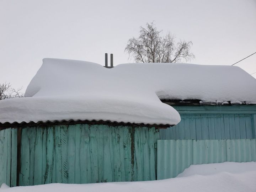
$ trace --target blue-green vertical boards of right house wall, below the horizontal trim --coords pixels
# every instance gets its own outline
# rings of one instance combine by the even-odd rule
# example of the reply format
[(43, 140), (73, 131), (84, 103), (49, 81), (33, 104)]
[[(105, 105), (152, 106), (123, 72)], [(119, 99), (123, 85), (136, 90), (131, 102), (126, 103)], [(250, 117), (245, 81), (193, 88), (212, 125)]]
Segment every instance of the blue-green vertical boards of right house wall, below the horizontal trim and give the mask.
[(160, 130), (160, 139), (254, 139), (252, 114), (180, 114), (177, 126)]

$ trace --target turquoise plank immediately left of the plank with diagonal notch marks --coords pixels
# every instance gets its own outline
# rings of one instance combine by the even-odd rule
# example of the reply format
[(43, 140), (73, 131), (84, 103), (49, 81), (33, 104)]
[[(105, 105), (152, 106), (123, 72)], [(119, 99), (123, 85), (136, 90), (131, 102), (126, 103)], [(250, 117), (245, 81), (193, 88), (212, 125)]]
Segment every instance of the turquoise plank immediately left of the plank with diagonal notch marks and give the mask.
[(60, 126), (54, 126), (55, 182), (62, 183), (62, 143)]

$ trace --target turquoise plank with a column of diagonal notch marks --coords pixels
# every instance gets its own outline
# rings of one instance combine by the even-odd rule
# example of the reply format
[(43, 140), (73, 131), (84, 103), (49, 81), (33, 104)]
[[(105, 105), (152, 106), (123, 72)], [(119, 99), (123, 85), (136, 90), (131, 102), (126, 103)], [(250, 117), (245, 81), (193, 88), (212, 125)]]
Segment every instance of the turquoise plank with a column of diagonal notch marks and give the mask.
[(62, 183), (68, 183), (68, 126), (60, 126), (61, 142), (61, 164), (62, 164)]

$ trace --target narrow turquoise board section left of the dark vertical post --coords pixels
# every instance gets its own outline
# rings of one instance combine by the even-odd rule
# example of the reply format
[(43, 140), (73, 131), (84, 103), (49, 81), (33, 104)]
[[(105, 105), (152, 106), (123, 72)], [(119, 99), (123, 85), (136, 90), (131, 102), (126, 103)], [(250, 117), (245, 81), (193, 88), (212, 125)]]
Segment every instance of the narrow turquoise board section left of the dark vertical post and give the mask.
[(0, 130), (0, 185), (16, 186), (17, 129)]

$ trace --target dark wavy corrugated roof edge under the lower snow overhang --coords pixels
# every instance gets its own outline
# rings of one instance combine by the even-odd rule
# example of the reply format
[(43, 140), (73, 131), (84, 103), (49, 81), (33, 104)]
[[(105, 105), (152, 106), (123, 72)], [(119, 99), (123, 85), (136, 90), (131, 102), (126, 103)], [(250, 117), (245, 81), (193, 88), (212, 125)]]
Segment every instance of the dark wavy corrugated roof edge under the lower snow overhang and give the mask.
[(94, 125), (94, 124), (106, 124), (109, 126), (132, 126), (132, 127), (155, 127), (155, 128), (168, 128), (168, 127), (172, 127), (175, 125), (171, 125), (171, 124), (145, 124), (145, 123), (124, 123), (124, 122), (111, 122), (111, 121), (103, 121), (103, 120), (62, 120), (62, 121), (46, 121), (46, 122), (42, 122), (42, 121), (38, 121), (38, 122), (13, 122), (13, 123), (9, 123), (9, 122), (5, 122), (5, 123), (0, 123), (0, 130), (1, 129), (6, 129), (6, 128), (14, 128), (14, 127), (33, 127), (33, 126), (51, 126), (51, 125), (69, 125), (69, 124), (90, 124), (90, 125)]

